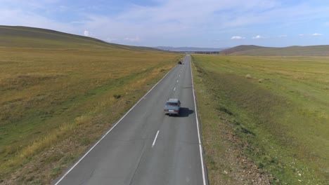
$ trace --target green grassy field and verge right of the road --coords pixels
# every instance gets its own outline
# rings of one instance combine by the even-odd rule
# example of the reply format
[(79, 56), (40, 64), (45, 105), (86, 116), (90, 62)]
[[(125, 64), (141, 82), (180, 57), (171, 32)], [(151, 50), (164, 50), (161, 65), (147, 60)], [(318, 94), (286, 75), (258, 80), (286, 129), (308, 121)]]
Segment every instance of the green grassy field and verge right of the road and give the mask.
[(193, 64), (210, 184), (329, 184), (329, 57)]

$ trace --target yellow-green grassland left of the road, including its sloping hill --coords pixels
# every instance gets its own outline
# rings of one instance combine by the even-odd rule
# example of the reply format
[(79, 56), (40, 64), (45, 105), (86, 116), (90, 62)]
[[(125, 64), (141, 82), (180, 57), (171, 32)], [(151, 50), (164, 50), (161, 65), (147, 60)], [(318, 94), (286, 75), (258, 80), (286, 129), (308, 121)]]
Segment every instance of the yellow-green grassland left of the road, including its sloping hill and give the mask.
[(49, 184), (183, 57), (0, 27), (0, 184)]

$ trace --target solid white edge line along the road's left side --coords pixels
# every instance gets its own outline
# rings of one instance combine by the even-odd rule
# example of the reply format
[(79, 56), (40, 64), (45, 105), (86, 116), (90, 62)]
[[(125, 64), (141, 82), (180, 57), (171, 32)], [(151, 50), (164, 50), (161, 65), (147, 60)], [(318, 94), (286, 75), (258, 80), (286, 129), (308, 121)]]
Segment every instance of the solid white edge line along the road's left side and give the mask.
[[(153, 88), (155, 88), (155, 86), (156, 86), (158, 83), (160, 83), (160, 82), (163, 80), (163, 78), (166, 77), (166, 76), (167, 76), (172, 70), (174, 70), (175, 68), (176, 68), (176, 67), (173, 67), (172, 69), (170, 69), (170, 71), (168, 71), (167, 74), (164, 75), (164, 76), (160, 79), (160, 81), (158, 81), (157, 83), (155, 83), (155, 85), (154, 85), (150, 90), (148, 90), (148, 93), (150, 93), (150, 91), (153, 90)], [(98, 142), (96, 142), (96, 144), (93, 144), (93, 146), (89, 149), (89, 151), (87, 151), (86, 153), (84, 153), (84, 156), (82, 156), (82, 158), (80, 158), (80, 159), (77, 161), (77, 163), (75, 163), (75, 165), (73, 165), (73, 166), (70, 168), (70, 170), (68, 170), (68, 171), (63, 175), (63, 177), (61, 177), (61, 178), (56, 182), (56, 184), (54, 184), (54, 185), (58, 185), (58, 184), (60, 183), (60, 181), (62, 181), (62, 180), (67, 176), (67, 174), (69, 174), (69, 173), (73, 170), (73, 168), (75, 168), (75, 167), (76, 167), (76, 166), (77, 166), (77, 165), (78, 165), (78, 164), (79, 164), (79, 163), (80, 163), (80, 162), (86, 157), (86, 155), (88, 155), (88, 153), (89, 153), (93, 148), (95, 148), (95, 146), (96, 146), (99, 142), (101, 142), (101, 140), (103, 140), (104, 137), (105, 137), (106, 135), (108, 135), (108, 133), (110, 133), (111, 130), (113, 130), (113, 128), (115, 128), (115, 126), (116, 126), (118, 123), (120, 123), (120, 121), (122, 121), (122, 119), (123, 119), (124, 117), (126, 117), (127, 114), (129, 114), (129, 112), (130, 112), (132, 109), (134, 109), (134, 107), (136, 107), (136, 105), (137, 105), (139, 102), (141, 102), (141, 100), (143, 100), (144, 97), (146, 97), (146, 95), (148, 95), (148, 93), (146, 93), (143, 97), (141, 97), (141, 99), (139, 99), (138, 102), (137, 102), (136, 104), (134, 104), (134, 106), (131, 107), (131, 108), (129, 109), (129, 111), (127, 111), (127, 113), (124, 114), (124, 116), (122, 116), (122, 118), (120, 118), (120, 120), (117, 121), (117, 123), (115, 123), (115, 125), (113, 125), (112, 128), (110, 128), (110, 130), (108, 130), (108, 132), (106, 132), (105, 135), (103, 135), (103, 137), (101, 137), (101, 139), (98, 140)]]

